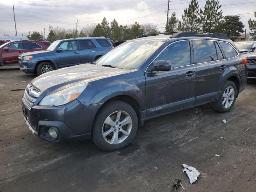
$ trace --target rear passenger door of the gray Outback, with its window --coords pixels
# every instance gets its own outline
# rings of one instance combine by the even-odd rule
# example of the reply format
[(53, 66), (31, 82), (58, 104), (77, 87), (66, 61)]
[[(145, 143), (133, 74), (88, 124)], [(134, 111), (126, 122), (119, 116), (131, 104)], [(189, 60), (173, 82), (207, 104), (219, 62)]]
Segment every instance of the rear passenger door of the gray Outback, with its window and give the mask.
[(217, 41), (192, 40), (196, 78), (196, 104), (202, 104), (218, 98), (222, 78), (228, 74), (228, 61)]

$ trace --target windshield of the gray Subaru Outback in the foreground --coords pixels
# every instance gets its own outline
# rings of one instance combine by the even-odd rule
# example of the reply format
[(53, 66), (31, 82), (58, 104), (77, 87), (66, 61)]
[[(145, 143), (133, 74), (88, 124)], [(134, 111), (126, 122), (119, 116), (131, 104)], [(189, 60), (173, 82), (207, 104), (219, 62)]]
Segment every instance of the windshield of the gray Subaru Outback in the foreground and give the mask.
[(96, 61), (96, 65), (136, 69), (141, 66), (164, 42), (130, 41), (121, 44)]

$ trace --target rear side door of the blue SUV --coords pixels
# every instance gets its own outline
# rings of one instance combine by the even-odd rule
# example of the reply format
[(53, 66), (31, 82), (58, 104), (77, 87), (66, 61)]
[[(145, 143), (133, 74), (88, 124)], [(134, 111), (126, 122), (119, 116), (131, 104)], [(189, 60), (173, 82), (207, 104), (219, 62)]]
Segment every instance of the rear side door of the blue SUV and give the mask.
[(89, 39), (79, 40), (79, 47), (81, 64), (92, 62), (94, 57), (98, 55), (98, 49)]

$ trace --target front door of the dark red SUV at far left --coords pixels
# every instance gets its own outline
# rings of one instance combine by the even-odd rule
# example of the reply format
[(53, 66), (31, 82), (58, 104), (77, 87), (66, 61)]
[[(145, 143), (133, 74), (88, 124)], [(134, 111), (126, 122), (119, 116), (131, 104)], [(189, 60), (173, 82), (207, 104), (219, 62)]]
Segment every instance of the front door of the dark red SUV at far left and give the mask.
[(14, 42), (8, 44), (8, 50), (2, 50), (2, 57), (4, 60), (4, 64), (18, 64), (19, 58), (18, 56), (22, 54), (22, 42)]

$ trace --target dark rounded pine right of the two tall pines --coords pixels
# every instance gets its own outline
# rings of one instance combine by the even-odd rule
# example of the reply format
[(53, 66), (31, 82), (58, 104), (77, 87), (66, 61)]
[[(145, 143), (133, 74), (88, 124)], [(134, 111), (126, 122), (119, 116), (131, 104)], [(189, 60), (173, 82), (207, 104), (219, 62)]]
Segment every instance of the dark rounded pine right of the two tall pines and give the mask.
[(225, 33), (228, 38), (235, 40), (243, 33), (244, 24), (240, 21), (240, 16), (225, 16), (222, 23), (214, 29), (214, 32)]

